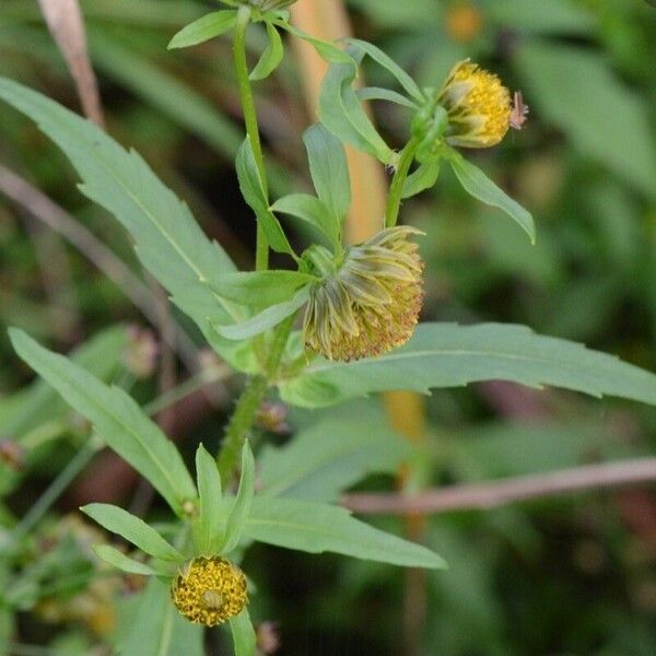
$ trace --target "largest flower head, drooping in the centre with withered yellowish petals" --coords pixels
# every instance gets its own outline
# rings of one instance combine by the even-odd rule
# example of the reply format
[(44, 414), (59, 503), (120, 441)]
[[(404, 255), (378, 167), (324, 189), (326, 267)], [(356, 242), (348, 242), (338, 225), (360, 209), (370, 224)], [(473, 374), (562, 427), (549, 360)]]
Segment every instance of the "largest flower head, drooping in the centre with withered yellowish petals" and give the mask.
[(311, 290), (303, 325), (308, 348), (348, 362), (410, 339), (423, 301), (423, 265), (408, 239), (414, 234), (421, 233), (389, 227), (348, 248), (339, 267), (319, 271), (324, 280)]

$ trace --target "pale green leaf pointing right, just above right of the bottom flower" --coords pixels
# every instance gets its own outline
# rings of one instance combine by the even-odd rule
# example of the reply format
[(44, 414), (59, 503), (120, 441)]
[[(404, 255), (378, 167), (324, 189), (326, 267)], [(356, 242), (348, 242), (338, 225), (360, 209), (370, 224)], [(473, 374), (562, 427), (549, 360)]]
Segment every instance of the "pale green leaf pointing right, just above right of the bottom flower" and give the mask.
[(256, 496), (244, 535), (296, 551), (331, 551), (408, 567), (445, 567), (435, 553), (354, 519), (338, 506)]

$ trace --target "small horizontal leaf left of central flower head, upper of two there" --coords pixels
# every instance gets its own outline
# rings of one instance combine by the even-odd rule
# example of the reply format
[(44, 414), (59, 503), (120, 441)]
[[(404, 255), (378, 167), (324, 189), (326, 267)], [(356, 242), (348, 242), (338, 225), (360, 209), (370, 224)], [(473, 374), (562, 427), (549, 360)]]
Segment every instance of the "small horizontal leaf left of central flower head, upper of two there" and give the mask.
[(242, 305), (273, 305), (289, 301), (302, 286), (318, 282), (300, 271), (269, 270), (226, 273), (212, 284), (221, 296)]

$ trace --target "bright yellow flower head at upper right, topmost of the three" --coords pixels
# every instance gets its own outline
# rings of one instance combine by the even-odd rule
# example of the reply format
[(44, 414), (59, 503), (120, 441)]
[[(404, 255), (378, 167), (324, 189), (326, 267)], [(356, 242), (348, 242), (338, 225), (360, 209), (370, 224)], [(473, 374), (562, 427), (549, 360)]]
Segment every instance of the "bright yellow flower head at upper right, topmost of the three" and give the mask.
[(478, 65), (458, 62), (437, 97), (448, 114), (445, 139), (462, 148), (496, 145), (508, 131), (511, 93), (501, 80)]

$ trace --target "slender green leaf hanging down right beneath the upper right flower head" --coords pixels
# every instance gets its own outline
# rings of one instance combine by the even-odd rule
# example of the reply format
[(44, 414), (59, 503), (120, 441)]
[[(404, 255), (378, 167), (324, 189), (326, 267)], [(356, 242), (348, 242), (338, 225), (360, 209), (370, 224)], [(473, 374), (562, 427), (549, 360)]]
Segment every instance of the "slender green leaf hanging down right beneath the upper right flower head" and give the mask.
[(503, 210), (519, 224), (535, 244), (536, 226), (530, 212), (502, 191), (478, 166), (462, 157), (460, 153), (450, 150), (447, 160), (468, 194), (485, 204)]

